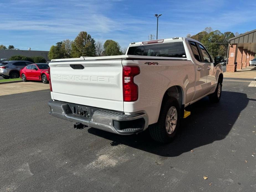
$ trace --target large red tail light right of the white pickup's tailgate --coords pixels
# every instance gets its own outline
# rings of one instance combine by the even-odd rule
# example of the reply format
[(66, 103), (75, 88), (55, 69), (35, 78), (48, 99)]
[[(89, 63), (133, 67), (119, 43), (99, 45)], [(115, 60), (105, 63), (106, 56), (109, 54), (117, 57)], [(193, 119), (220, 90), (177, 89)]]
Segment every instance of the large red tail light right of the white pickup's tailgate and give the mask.
[(138, 85), (133, 78), (140, 73), (138, 66), (123, 66), (123, 101), (131, 102), (138, 99)]

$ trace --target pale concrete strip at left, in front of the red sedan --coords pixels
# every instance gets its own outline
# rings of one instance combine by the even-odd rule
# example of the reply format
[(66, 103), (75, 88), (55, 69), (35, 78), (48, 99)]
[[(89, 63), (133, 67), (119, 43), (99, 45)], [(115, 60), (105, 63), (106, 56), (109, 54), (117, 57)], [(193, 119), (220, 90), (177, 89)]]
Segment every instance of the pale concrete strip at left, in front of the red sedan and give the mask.
[(30, 91), (39, 91), (44, 89), (50, 89), (49, 84), (43, 84), (42, 82), (17, 82), (10, 84), (0, 84), (0, 96), (25, 93)]

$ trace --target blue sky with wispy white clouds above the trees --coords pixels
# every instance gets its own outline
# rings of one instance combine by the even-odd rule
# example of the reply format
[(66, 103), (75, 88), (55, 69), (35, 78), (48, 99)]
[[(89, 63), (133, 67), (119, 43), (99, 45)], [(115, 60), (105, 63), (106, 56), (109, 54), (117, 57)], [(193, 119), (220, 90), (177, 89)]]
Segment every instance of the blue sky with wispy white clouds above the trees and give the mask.
[(138, 0), (0, 0), (0, 44), (49, 50), (64, 39), (87, 31), (96, 41), (113, 39), (122, 46), (156, 36), (184, 37), (205, 27), (244, 33), (256, 28), (252, 1)]

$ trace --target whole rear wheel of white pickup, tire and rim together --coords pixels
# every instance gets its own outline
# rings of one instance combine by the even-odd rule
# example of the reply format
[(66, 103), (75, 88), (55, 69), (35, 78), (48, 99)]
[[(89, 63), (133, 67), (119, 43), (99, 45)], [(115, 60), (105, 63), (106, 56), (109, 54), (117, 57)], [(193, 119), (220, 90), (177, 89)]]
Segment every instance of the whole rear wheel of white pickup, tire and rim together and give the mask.
[(171, 142), (179, 129), (180, 106), (175, 98), (167, 98), (162, 104), (156, 124), (149, 128), (151, 137), (158, 142)]

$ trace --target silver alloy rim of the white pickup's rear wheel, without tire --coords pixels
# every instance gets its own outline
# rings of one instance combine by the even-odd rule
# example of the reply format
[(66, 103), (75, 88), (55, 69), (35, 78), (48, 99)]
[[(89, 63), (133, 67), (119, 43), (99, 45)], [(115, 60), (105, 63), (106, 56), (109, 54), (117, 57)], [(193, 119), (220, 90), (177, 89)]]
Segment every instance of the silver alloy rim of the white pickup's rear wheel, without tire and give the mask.
[(172, 134), (176, 128), (178, 113), (177, 109), (172, 106), (166, 115), (165, 127), (168, 134)]

